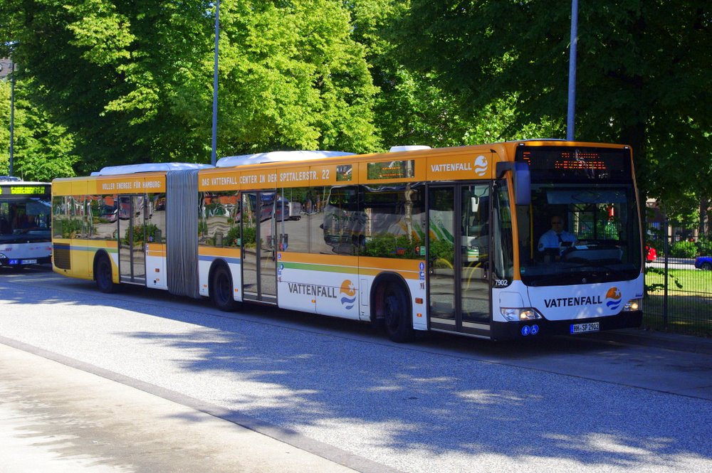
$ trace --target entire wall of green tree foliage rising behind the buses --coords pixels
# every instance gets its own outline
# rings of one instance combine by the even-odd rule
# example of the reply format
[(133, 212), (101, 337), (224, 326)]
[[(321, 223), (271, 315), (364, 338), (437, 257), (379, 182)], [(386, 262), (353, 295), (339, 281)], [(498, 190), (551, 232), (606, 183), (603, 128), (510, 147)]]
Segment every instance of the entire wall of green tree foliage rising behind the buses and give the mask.
[[(712, 195), (707, 4), (579, 9), (576, 137), (632, 144), (642, 194), (686, 220)], [(223, 0), (218, 154), (564, 137), (569, 28), (552, 0)], [(213, 48), (211, 1), (4, 0), (16, 169), (209, 161)]]

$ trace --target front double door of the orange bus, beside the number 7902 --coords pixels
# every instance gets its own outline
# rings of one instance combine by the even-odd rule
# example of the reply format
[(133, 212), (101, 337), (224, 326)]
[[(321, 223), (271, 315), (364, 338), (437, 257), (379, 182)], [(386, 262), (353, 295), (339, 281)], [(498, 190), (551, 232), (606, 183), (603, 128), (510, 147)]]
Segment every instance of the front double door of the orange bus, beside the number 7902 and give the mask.
[(490, 185), (430, 186), (431, 329), (488, 336)]

